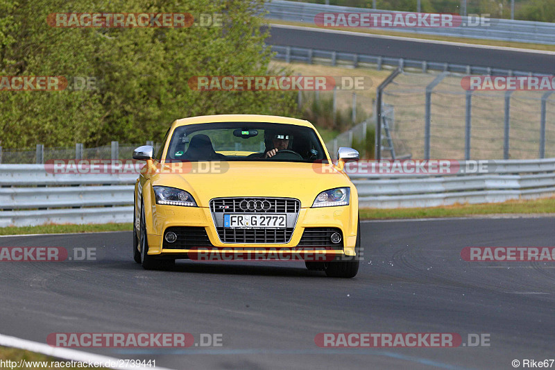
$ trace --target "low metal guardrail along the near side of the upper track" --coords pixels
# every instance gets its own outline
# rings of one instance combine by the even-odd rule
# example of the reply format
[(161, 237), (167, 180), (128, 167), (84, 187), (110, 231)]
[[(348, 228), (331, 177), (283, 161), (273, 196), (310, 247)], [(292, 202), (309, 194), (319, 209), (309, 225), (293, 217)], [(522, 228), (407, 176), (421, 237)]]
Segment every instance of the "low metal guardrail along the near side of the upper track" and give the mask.
[(426, 60), (413, 60), (405, 58), (392, 58), (359, 53), (339, 53), (329, 50), (309, 49), (302, 47), (284, 47), (282, 45), (272, 45), (275, 51), (273, 58), (291, 62), (297, 60), (309, 64), (325, 65), (349, 65), (352, 67), (368, 67), (381, 70), (384, 66), (399, 67), (400, 70), (407, 68), (421, 70), (426, 73), (429, 70), (441, 72), (454, 72), (461, 74), (486, 74), (495, 76), (540, 76), (527, 71), (513, 71), (512, 69), (480, 67), (475, 65), (458, 65), (443, 62), (428, 62)]

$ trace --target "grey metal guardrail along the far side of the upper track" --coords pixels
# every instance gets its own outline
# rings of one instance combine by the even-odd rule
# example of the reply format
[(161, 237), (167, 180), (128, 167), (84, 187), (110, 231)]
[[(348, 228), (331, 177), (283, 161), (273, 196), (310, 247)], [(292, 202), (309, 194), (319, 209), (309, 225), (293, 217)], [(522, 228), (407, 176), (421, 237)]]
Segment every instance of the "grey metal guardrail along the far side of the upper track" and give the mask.
[[(320, 12), (393, 12), (370, 8), (352, 8), (297, 1), (273, 0), (265, 4), (266, 18), (290, 22), (314, 24), (314, 17)], [(389, 31), (441, 35), (486, 40), (528, 42), (535, 44), (555, 44), (555, 24), (547, 22), (517, 21), (511, 19), (490, 19), (489, 26), (464, 26), (468, 17), (461, 17), (463, 26), (454, 28), (386, 28)], [(377, 28), (384, 29), (384, 28)]]

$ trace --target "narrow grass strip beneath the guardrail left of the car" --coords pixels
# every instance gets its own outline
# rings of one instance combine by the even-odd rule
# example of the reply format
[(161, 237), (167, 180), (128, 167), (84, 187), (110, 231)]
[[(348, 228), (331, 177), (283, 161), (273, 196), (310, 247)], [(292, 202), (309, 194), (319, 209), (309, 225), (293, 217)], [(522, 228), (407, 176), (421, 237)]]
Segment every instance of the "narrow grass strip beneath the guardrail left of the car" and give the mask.
[(133, 224), (8, 226), (0, 228), (0, 235), (99, 233), (102, 231), (130, 231)]

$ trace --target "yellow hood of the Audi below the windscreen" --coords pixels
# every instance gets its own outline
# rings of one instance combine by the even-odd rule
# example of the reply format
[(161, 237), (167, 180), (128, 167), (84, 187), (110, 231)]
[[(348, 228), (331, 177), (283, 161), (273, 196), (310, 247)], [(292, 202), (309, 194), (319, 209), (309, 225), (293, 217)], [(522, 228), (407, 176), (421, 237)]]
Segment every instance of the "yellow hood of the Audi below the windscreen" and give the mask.
[(199, 207), (225, 196), (271, 196), (299, 199), (304, 208), (311, 207), (324, 190), (352, 187), (348, 176), (329, 164), (193, 162), (180, 167), (183, 165), (166, 165), (153, 174), (152, 184), (187, 190)]

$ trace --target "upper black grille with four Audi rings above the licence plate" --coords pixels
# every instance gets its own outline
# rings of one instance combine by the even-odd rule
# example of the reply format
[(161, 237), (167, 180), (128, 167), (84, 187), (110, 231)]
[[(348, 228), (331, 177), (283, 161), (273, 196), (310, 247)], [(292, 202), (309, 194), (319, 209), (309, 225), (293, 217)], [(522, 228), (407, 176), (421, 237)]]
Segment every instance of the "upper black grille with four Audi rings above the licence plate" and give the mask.
[[(267, 201), (269, 203), (264, 203), (265, 207), (268, 209), (255, 209), (249, 210), (245, 207), (243, 203), (243, 209), (241, 209), (241, 202), (262, 202)], [(217, 198), (210, 201), (210, 210), (212, 212), (244, 212), (244, 213), (297, 213), (300, 209), (300, 201), (297, 199), (289, 198)]]

